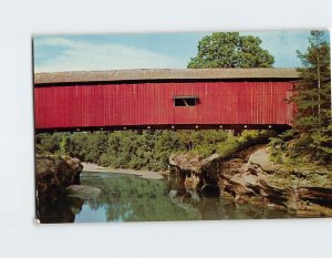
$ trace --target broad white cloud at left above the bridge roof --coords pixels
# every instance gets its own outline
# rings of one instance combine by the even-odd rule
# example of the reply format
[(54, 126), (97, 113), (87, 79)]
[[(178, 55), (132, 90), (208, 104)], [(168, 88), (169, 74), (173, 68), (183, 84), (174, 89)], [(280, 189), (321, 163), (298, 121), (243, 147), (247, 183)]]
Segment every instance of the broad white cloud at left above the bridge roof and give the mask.
[[(56, 54), (39, 51), (39, 48), (61, 47)], [(64, 38), (37, 38), (34, 40), (35, 72), (98, 71), (117, 69), (180, 68), (176, 56), (145, 49), (107, 42), (91, 42)]]

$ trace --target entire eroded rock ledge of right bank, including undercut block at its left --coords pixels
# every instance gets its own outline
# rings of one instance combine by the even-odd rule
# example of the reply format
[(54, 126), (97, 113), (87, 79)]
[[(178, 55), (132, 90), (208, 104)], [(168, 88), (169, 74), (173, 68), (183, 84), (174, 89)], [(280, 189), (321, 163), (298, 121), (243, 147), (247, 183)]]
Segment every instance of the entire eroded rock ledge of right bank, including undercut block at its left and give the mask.
[(298, 216), (332, 216), (331, 171), (284, 171), (269, 161), (266, 145), (257, 145), (222, 159), (189, 154), (172, 155), (170, 172), (186, 189), (211, 185), (222, 198), (236, 203), (287, 209)]

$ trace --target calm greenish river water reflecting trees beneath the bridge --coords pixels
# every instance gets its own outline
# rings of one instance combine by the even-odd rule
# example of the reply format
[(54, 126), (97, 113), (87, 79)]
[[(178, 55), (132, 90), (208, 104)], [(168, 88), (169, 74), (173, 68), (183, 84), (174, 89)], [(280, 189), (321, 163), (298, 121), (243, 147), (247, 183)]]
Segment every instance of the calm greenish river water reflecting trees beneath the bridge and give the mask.
[(237, 205), (134, 175), (82, 173), (81, 184), (102, 189), (92, 200), (61, 197), (40, 205), (42, 223), (105, 223), (284, 218), (287, 211)]

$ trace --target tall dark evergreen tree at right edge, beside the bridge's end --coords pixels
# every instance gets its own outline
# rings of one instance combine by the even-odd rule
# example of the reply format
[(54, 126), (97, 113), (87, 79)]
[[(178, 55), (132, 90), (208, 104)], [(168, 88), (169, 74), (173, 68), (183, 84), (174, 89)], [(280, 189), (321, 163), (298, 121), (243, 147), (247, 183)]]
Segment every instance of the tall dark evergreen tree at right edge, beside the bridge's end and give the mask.
[(328, 163), (332, 154), (330, 43), (323, 31), (311, 31), (305, 53), (297, 51), (303, 68), (291, 100), (297, 104), (294, 128), (299, 138), (291, 157)]

